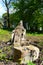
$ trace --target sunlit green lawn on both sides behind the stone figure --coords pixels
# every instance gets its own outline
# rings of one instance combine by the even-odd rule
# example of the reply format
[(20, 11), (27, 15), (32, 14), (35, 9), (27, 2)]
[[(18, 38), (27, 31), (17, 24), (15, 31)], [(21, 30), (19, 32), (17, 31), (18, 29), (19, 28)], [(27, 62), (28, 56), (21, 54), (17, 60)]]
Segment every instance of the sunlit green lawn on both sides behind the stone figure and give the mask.
[[(8, 30), (3, 30), (3, 29), (0, 29), (0, 41), (7, 41), (11, 38), (11, 32), (12, 31), (8, 31)], [(38, 34), (38, 33), (27, 33), (26, 36), (28, 37), (32, 37), (32, 36), (42, 36), (43, 37), (43, 34)]]

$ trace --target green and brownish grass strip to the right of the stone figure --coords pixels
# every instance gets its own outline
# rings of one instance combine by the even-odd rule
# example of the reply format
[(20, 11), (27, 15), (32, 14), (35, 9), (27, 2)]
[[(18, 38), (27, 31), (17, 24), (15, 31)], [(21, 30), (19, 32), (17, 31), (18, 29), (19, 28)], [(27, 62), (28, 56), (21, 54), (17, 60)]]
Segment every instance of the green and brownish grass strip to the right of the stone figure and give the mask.
[(38, 34), (38, 33), (27, 33), (26, 34), (28, 39), (31, 39), (32, 41), (37, 41), (37, 42), (43, 42), (43, 34)]

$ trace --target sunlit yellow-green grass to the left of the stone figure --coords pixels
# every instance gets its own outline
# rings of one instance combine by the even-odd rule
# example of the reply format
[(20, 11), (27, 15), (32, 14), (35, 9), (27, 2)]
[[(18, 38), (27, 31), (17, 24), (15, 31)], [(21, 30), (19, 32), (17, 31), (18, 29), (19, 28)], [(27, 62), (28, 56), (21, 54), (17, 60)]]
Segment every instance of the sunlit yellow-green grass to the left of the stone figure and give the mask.
[(0, 29), (0, 41), (7, 41), (11, 37), (11, 32), (7, 30)]

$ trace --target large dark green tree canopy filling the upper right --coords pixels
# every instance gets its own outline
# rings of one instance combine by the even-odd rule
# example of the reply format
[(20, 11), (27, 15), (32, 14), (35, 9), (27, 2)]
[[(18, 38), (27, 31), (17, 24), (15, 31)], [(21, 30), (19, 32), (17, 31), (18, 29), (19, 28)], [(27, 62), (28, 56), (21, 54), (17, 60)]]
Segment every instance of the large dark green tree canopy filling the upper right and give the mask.
[[(43, 14), (41, 0), (16, 0), (12, 3), (14, 10), (16, 9), (16, 16), (19, 20), (23, 20), (25, 28), (28, 30), (39, 31), (40, 27), (43, 29)], [(26, 26), (26, 23), (27, 26)]]

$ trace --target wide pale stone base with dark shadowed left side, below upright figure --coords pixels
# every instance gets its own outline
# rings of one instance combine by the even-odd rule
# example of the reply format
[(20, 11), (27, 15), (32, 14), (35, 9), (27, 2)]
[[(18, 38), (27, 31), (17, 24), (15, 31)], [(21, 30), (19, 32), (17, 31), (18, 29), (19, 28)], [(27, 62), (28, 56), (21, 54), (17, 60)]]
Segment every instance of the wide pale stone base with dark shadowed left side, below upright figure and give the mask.
[(21, 61), (21, 63), (27, 63), (27, 61), (35, 61), (39, 56), (39, 49), (33, 45), (14, 47), (14, 61)]

